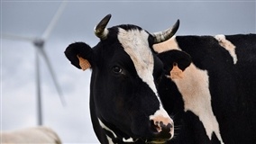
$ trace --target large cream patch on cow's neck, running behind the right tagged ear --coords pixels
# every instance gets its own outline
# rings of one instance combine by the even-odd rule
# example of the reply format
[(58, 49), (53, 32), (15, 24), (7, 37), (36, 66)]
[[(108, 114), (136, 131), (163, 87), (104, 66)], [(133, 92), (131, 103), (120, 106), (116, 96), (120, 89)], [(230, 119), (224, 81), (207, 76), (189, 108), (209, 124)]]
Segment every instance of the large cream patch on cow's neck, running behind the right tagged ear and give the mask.
[[(175, 37), (155, 44), (153, 49), (159, 53), (170, 49), (179, 49)], [(178, 91), (182, 95), (184, 101), (184, 111), (188, 110), (195, 113), (199, 120), (202, 121), (206, 134), (209, 139), (212, 139), (212, 134), (215, 132), (217, 139), (223, 142), (220, 134), (219, 124), (212, 110), (211, 94), (209, 92), (209, 81), (206, 70), (198, 69), (193, 63), (184, 71), (184, 78), (172, 79), (177, 85)]]

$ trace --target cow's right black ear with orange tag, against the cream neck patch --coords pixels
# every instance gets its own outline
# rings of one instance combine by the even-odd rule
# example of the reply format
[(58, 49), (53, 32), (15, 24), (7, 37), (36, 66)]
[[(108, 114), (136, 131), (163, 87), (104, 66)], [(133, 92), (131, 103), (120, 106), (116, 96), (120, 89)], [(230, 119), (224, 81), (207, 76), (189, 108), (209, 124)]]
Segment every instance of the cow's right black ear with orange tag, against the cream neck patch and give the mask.
[(164, 64), (166, 75), (171, 79), (183, 78), (183, 71), (190, 65), (191, 57), (184, 51), (168, 50), (158, 54)]

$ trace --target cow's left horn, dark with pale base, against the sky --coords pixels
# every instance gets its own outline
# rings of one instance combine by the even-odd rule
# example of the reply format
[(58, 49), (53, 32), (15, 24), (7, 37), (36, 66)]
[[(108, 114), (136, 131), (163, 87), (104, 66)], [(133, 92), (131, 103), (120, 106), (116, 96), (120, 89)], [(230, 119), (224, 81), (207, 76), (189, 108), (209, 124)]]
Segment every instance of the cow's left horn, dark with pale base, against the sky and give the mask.
[(108, 30), (105, 29), (106, 24), (109, 22), (111, 14), (105, 15), (105, 17), (95, 27), (95, 34), (98, 38), (105, 40), (107, 37)]

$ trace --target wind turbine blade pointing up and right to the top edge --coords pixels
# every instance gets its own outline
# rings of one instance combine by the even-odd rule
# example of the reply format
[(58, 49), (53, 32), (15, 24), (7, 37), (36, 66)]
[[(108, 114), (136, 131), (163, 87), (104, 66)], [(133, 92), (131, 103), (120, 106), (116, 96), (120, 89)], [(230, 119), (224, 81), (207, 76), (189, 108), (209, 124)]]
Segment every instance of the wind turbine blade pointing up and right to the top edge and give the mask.
[(56, 25), (56, 23), (59, 20), (60, 15), (63, 13), (64, 8), (66, 7), (67, 1), (64, 0), (62, 1), (62, 3), (59, 5), (59, 9), (56, 12), (56, 14), (54, 14), (54, 16), (52, 17), (48, 27), (46, 28), (46, 30), (43, 32), (42, 34), (42, 39), (43, 40), (47, 40), (50, 36), (51, 31), (53, 30), (54, 26)]

